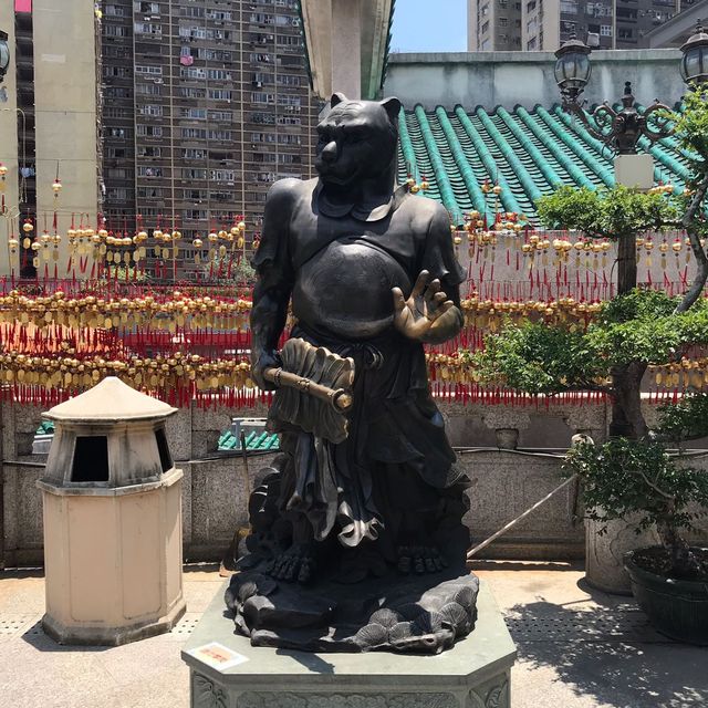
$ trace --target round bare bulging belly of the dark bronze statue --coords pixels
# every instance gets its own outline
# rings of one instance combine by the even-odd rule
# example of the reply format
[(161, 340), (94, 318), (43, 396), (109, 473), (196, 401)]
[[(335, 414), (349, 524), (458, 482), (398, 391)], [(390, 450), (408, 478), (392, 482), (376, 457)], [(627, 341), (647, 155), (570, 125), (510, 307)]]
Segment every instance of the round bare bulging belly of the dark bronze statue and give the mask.
[(300, 268), (293, 314), (347, 339), (374, 337), (393, 324), (395, 287), (404, 293), (410, 290), (394, 258), (362, 242), (334, 241)]

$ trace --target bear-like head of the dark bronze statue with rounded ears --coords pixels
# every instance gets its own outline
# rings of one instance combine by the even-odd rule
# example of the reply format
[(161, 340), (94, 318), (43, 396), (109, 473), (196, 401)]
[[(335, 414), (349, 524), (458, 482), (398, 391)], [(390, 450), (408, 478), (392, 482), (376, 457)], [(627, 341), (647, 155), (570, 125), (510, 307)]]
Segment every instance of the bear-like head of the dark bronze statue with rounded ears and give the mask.
[(386, 174), (396, 157), (398, 98), (348, 101), (341, 93), (317, 125), (315, 168), (322, 181), (350, 186)]

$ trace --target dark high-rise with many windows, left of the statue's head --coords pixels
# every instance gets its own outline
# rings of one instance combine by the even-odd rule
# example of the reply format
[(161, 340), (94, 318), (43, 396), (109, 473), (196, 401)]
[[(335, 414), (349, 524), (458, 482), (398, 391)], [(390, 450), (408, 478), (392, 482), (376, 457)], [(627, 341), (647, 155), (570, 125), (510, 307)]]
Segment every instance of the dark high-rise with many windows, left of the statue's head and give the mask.
[(314, 122), (298, 0), (105, 0), (103, 206), (108, 227), (188, 244), (269, 186), (312, 173)]

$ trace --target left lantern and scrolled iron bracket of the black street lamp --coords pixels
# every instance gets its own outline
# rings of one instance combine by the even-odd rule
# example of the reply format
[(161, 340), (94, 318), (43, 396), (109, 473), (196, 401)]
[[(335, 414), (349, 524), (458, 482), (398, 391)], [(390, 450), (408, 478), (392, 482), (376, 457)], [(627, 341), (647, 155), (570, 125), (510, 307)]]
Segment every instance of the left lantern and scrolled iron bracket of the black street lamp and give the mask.
[(620, 155), (634, 155), (637, 142), (642, 136), (654, 142), (670, 135), (670, 132), (665, 127), (666, 119), (663, 119), (660, 114), (654, 117), (658, 128), (649, 125), (649, 118), (654, 114), (669, 111), (669, 107), (655, 101), (644, 113), (639, 113), (632, 94), (632, 84), (628, 81), (624, 85), (620, 111), (615, 111), (605, 101), (592, 112), (591, 119), (589, 119), (583, 108), (585, 101), (580, 101), (580, 96), (592, 74), (590, 52), (590, 46), (575, 37), (571, 37), (555, 52), (558, 60), (555, 62), (555, 82), (561, 92), (563, 111), (576, 116), (595, 139), (601, 140)]

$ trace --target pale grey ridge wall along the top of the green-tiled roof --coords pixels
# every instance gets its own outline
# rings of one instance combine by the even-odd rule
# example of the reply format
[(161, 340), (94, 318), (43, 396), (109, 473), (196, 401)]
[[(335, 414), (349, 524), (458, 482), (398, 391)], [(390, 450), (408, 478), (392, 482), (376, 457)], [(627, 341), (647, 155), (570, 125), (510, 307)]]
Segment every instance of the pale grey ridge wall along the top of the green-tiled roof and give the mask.
[[(585, 97), (590, 104), (622, 97), (624, 82), (644, 105), (655, 98), (673, 105), (684, 93), (678, 73), (678, 50), (596, 51)], [(467, 110), (478, 105), (533, 108), (559, 102), (552, 52), (475, 52), (449, 54), (392, 54), (384, 85), (385, 96), (398, 96), (407, 108), (421, 104)]]

